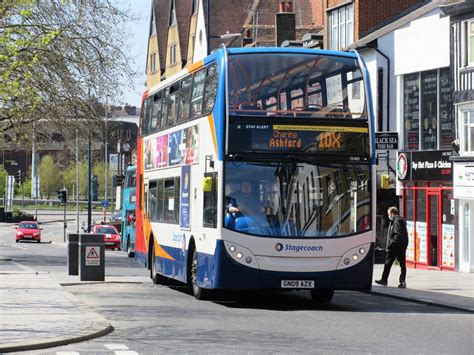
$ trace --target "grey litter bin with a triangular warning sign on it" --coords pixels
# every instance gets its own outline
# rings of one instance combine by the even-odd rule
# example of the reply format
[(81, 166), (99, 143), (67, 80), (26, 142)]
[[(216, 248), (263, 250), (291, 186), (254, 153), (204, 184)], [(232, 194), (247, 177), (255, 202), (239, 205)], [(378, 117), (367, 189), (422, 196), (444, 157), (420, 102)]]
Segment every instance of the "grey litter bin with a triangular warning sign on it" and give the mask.
[(105, 280), (105, 245), (103, 234), (79, 235), (79, 279)]

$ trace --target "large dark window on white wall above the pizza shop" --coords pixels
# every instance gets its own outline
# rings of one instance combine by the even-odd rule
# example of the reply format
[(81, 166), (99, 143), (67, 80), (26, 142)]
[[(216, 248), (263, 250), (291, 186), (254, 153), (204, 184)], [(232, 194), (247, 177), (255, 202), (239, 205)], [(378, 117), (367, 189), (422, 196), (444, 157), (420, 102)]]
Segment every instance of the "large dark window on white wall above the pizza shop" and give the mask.
[(404, 76), (405, 150), (450, 150), (453, 141), (449, 69)]

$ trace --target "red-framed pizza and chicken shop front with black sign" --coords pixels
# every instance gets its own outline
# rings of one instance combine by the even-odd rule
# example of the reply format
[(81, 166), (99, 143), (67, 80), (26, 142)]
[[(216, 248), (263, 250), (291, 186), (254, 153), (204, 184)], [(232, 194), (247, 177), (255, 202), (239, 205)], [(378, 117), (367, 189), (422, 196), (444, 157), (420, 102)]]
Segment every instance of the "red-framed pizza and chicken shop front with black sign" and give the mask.
[(397, 160), (402, 215), (407, 221), (407, 266), (455, 269), (455, 203), (451, 151), (402, 152)]

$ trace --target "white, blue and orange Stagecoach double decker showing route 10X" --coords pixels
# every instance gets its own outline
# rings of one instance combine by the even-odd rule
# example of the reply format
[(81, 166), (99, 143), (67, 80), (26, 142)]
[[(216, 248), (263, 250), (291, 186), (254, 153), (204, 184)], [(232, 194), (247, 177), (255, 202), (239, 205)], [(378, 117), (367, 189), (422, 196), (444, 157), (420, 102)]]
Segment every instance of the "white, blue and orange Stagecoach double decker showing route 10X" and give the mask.
[(357, 52), (222, 47), (144, 96), (136, 258), (155, 283), (370, 290), (375, 153)]

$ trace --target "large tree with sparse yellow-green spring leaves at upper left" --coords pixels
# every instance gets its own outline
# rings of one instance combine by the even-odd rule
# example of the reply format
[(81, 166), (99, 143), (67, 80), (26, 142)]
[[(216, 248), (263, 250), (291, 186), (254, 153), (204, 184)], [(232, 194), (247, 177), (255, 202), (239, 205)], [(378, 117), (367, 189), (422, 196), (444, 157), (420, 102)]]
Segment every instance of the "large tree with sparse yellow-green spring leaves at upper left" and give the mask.
[(99, 102), (133, 82), (123, 46), (131, 17), (110, 0), (3, 0), (0, 130), (102, 118)]

